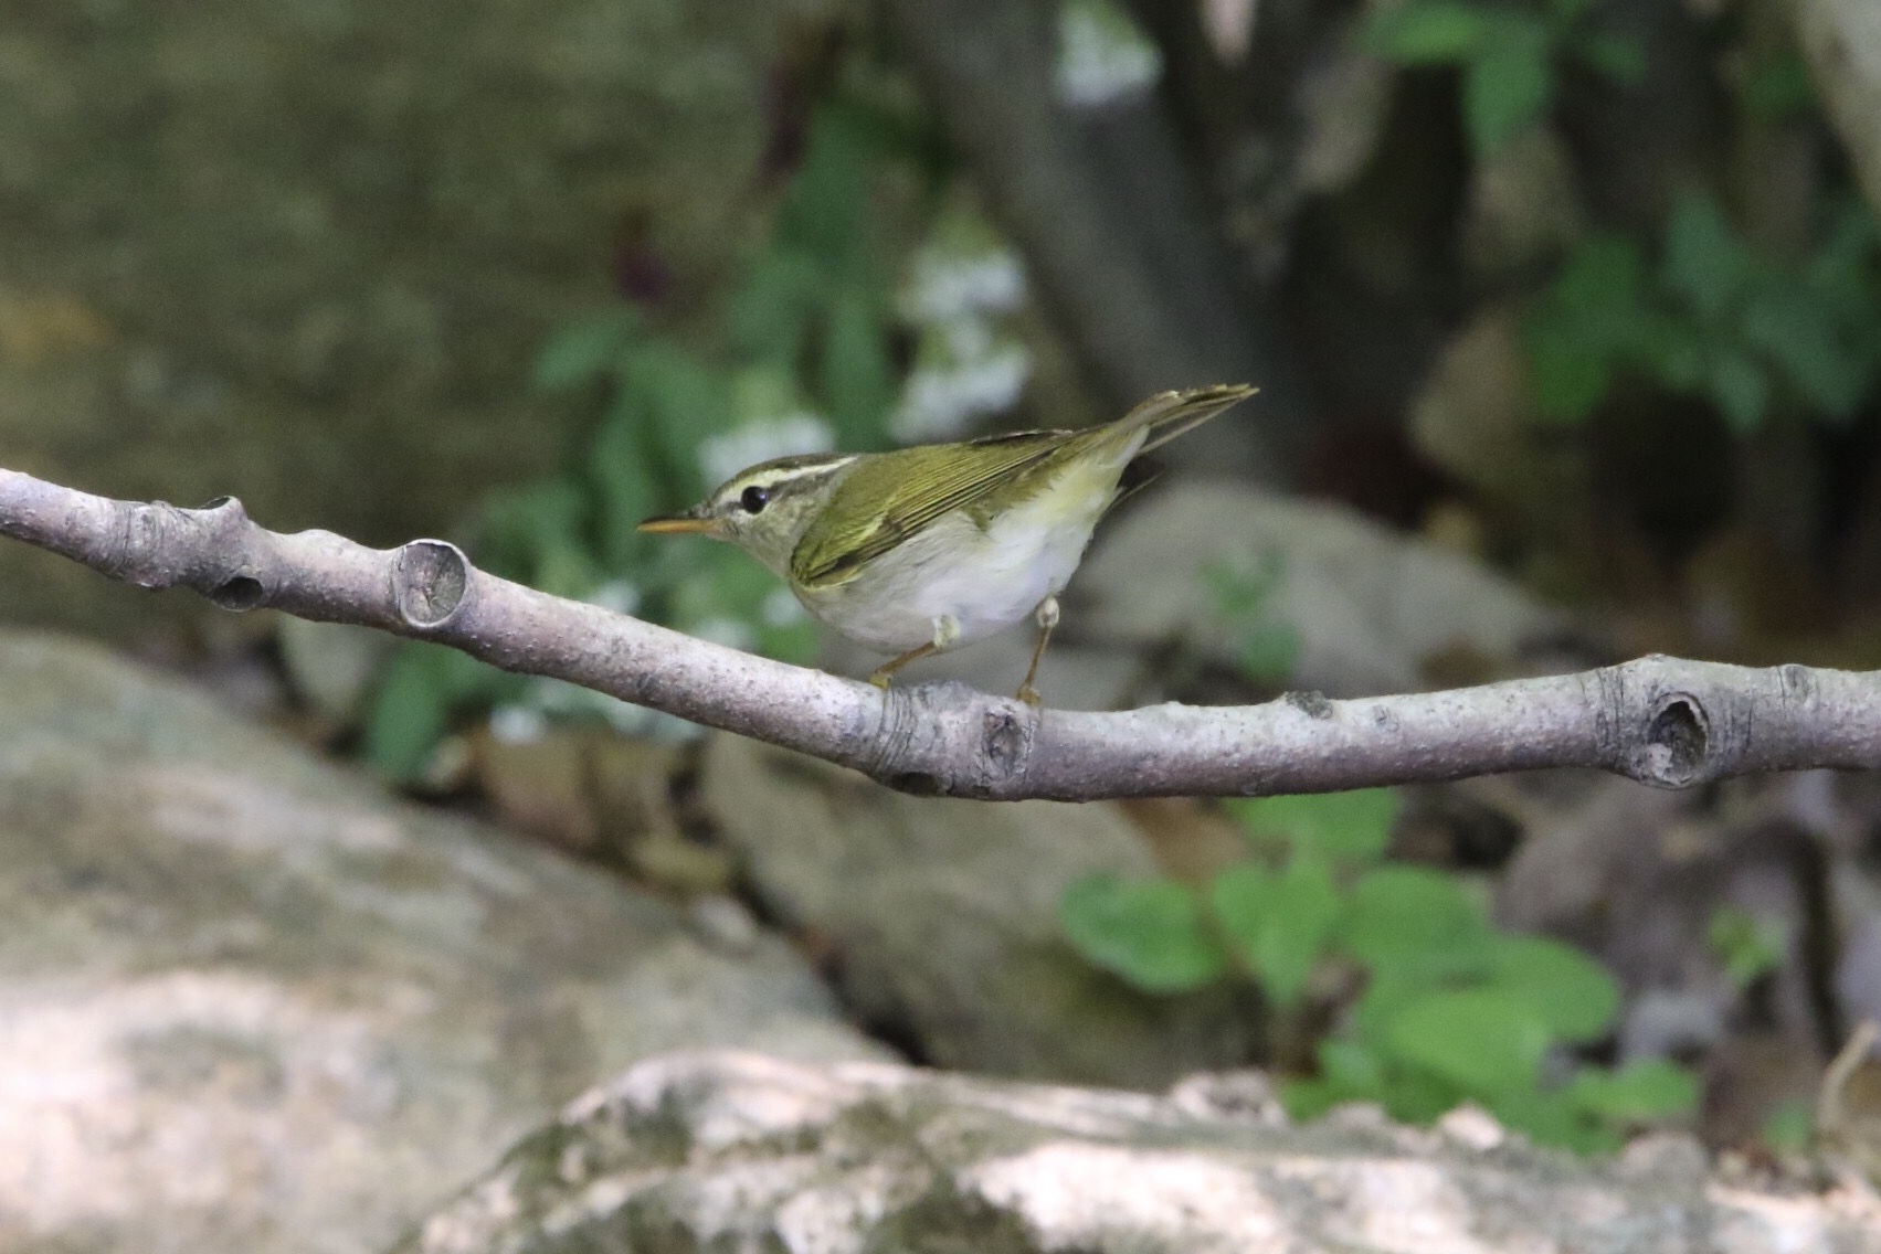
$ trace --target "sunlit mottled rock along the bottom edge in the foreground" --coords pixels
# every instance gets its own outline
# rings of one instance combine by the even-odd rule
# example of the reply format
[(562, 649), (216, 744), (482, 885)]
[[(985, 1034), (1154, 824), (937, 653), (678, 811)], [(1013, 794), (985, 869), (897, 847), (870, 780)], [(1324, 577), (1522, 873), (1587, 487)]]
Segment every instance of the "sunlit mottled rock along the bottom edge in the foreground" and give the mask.
[(1849, 1184), (1706, 1179), (1683, 1139), (1612, 1164), (1480, 1111), (1309, 1128), (1144, 1094), (741, 1053), (636, 1066), (574, 1102), (399, 1254), (1778, 1254), (1881, 1250)]

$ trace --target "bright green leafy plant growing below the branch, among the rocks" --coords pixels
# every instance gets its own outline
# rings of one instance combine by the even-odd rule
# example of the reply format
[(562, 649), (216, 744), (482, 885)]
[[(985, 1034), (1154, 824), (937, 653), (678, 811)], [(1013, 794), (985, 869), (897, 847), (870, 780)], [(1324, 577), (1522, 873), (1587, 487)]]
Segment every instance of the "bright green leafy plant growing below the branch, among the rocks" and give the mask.
[(1674, 1062), (1573, 1060), (1612, 1030), (1614, 978), (1571, 946), (1497, 931), (1456, 876), (1386, 863), (1396, 793), (1230, 807), (1255, 857), (1202, 889), (1095, 876), (1067, 891), (1061, 914), (1080, 953), (1136, 987), (1243, 976), (1294, 1023), (1307, 1021), (1319, 976), (1362, 972), (1364, 993), (1317, 1045), (1317, 1075), (1283, 1087), (1294, 1117), (1379, 1102), (1428, 1122), (1473, 1100), (1537, 1141), (1589, 1152), (1695, 1107), (1697, 1079)]

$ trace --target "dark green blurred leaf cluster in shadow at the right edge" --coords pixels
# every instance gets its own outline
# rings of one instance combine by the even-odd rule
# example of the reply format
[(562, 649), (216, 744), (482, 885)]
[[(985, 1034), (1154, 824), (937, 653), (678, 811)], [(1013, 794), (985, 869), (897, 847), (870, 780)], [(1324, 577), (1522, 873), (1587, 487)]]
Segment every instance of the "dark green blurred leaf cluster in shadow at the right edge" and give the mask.
[(1584, 239), (1525, 338), (1550, 419), (1584, 419), (1625, 374), (1712, 400), (1740, 432), (1779, 404), (1849, 419), (1881, 370), (1881, 231), (1843, 201), (1813, 250), (1783, 261), (1691, 194), (1653, 258), (1625, 235)]

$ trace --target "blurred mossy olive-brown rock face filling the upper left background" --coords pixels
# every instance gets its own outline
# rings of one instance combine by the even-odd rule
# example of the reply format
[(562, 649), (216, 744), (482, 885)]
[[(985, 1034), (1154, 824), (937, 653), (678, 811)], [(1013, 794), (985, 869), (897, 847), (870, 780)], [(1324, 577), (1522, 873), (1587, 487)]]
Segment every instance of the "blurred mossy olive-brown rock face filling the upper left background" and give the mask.
[[(8, 4), (0, 464), (365, 543), (459, 528), (561, 455), (576, 400), (530, 367), (619, 306), (624, 224), (709, 305), (762, 229), (786, 41), (846, 4)], [(203, 609), (24, 547), (0, 585), (0, 619), (94, 634)]]

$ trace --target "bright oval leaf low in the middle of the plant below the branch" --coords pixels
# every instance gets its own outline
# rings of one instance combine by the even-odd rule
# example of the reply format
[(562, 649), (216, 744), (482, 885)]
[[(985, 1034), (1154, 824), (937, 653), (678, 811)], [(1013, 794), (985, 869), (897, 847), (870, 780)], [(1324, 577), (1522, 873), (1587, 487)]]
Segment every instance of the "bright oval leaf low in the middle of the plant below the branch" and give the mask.
[(1550, 1045), (1525, 1000), (1492, 989), (1426, 995), (1398, 1013), (1388, 1040), (1394, 1055), (1478, 1094), (1535, 1089)]

